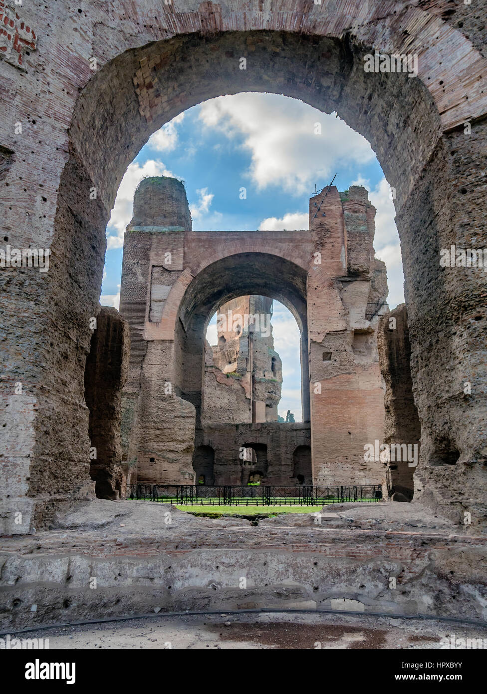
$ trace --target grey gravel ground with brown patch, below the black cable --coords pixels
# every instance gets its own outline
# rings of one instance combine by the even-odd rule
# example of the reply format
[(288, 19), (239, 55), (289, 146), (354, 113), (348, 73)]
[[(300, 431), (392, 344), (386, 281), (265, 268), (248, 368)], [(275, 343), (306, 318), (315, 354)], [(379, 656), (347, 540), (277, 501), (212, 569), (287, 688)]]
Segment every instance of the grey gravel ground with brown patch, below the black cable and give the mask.
[[(434, 621), (315, 614), (155, 617), (19, 634), (49, 638), (49, 648), (78, 649), (418, 649), (441, 638), (487, 638), (475, 627)], [(13, 636), (13, 635), (12, 635)]]

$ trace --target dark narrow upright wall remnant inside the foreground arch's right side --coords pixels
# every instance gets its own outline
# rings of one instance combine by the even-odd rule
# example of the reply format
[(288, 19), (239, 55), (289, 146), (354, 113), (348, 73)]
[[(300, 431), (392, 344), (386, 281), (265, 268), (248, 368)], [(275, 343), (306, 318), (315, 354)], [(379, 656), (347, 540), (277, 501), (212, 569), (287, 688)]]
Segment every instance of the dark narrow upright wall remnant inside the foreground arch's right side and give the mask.
[[(416, 446), (419, 455), (421, 425), (414, 404), (411, 345), (405, 304), (400, 304), (380, 319), (378, 347), (380, 370), (386, 384), (384, 443), (388, 446), (403, 443)], [(393, 501), (411, 501), (415, 472), (411, 461), (389, 459), (385, 466), (388, 498)], [(420, 481), (417, 481), (420, 491)]]

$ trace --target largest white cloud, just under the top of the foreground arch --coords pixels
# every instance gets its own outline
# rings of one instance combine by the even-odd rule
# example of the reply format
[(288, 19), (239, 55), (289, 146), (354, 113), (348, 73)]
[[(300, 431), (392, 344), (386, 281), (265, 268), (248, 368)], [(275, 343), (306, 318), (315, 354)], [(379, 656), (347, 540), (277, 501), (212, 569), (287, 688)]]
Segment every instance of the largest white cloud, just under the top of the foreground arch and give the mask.
[(312, 184), (325, 185), (339, 166), (375, 157), (365, 137), (341, 119), (278, 94), (218, 96), (201, 105), (199, 118), (230, 139), (243, 136), (252, 157), (247, 175), (259, 189), (280, 185), (311, 194)]

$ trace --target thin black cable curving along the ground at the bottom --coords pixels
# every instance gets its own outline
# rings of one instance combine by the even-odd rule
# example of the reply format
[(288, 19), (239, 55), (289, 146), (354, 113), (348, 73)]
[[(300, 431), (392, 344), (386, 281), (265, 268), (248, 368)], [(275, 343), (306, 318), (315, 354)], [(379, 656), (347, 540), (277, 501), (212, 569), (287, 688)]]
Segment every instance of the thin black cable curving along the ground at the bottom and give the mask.
[(253, 609), (233, 609), (233, 610), (189, 610), (185, 612), (157, 612), (155, 614), (137, 614), (125, 617), (107, 617), (104, 619), (82, 620), (79, 622), (67, 622), (60, 624), (40, 625), (36, 627), (28, 627), (15, 631), (0, 632), (0, 636), (16, 636), (17, 634), (26, 634), (29, 632), (40, 632), (44, 629), (63, 629), (66, 627), (83, 627), (92, 624), (107, 624), (110, 622), (128, 622), (135, 619), (159, 619), (161, 617), (191, 617), (204, 615), (238, 615), (238, 614), (264, 614), (264, 613), (283, 613), (283, 614), (334, 614), (337, 615), (353, 615), (359, 617), (386, 617), (389, 619), (420, 619), (435, 622), (450, 622), (454, 624), (468, 624), (475, 627), (487, 629), (487, 622), (481, 622), (475, 619), (461, 619), (458, 617), (441, 617), (430, 614), (395, 614), (390, 612), (359, 612), (352, 610), (336, 610), (336, 609), (295, 609), (286, 607), (257, 607)]

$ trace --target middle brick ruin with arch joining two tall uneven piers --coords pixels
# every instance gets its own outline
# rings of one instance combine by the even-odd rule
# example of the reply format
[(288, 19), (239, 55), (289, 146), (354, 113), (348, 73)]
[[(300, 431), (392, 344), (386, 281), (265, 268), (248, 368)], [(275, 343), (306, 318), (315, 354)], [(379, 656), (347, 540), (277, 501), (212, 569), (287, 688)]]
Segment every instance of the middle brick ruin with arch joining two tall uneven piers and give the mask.
[[(376, 344), (387, 283), (374, 216), (364, 188), (332, 186), (309, 201), (309, 230), (192, 232), (180, 181), (139, 184), (120, 295), (132, 346), (123, 457), (137, 482), (384, 482), (384, 466), (364, 460), (384, 432)], [(277, 422), (273, 298), (301, 331), (302, 424)], [(241, 459), (241, 448), (253, 453)]]

